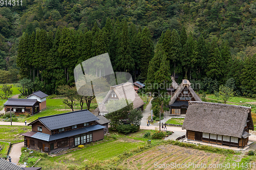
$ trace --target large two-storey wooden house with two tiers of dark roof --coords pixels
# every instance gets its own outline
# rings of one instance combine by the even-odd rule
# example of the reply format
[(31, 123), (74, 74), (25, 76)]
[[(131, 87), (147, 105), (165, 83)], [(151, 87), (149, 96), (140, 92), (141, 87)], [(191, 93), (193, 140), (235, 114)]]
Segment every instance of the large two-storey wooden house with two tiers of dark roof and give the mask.
[(33, 150), (52, 153), (104, 138), (104, 126), (97, 125), (98, 117), (88, 110), (38, 117), (24, 133), (24, 145)]

